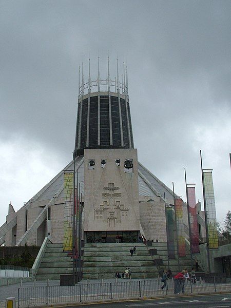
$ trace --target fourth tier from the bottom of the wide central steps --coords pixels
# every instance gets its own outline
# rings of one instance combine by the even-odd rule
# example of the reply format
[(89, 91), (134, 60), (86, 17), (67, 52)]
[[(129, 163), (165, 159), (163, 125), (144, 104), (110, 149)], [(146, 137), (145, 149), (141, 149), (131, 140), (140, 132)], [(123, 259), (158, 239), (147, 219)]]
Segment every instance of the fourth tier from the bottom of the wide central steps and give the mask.
[(133, 255), (131, 256), (86, 256), (84, 255), (83, 257), (84, 262), (85, 261), (89, 261), (89, 262), (97, 262), (97, 261), (126, 261), (126, 262), (130, 262), (130, 261), (145, 261), (145, 260), (151, 260), (151, 256), (150, 255), (146, 255), (146, 256), (136, 256)]

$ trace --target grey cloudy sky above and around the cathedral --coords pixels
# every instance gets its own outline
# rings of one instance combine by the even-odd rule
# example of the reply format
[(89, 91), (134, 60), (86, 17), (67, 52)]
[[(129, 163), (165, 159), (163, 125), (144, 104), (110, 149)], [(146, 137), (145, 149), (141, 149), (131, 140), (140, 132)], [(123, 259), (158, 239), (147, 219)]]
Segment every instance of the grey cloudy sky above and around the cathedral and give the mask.
[[(202, 201), (199, 150), (217, 217), (231, 208), (230, 1), (0, 1), (0, 225), (72, 158), (78, 67), (128, 66), (139, 160)], [(122, 73), (122, 66), (121, 66)]]

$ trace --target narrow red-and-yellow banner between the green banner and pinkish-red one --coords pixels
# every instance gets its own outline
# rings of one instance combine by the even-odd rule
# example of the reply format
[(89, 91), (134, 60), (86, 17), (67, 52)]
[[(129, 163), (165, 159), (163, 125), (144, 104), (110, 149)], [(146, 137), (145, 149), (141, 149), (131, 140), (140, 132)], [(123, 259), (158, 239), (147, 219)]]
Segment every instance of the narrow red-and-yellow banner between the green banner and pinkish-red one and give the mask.
[(175, 215), (177, 227), (177, 242), (179, 257), (185, 257), (185, 238), (184, 238), (184, 222), (183, 222), (183, 205), (182, 199), (175, 198)]

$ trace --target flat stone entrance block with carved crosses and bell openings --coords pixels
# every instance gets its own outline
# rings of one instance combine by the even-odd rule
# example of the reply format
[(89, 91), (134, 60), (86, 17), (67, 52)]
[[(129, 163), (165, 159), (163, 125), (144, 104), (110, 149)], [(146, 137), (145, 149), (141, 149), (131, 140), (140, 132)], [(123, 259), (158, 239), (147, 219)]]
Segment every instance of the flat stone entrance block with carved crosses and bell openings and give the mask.
[[(91, 159), (95, 166), (89, 170)], [(102, 159), (106, 160), (104, 168)], [(120, 159), (120, 166), (116, 159)], [(125, 172), (125, 159), (133, 160), (132, 173)], [(109, 183), (119, 188), (109, 191)], [(136, 149), (85, 149), (84, 191), (84, 231), (140, 230)]]

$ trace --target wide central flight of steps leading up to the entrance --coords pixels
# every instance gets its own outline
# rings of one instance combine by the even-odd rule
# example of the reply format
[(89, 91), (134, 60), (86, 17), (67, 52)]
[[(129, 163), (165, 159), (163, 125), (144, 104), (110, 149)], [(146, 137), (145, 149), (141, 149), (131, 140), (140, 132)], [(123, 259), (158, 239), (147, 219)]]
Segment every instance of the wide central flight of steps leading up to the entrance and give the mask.
[[(137, 246), (137, 254), (130, 248)], [(95, 243), (85, 244), (83, 257), (83, 279), (111, 279), (130, 267), (131, 278), (155, 278), (159, 272), (143, 243)]]

